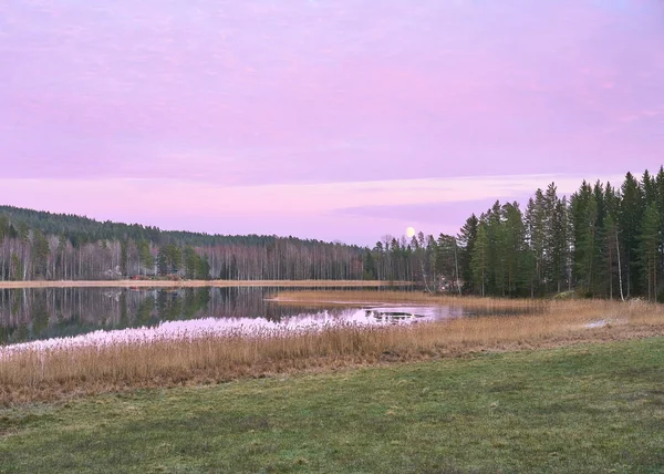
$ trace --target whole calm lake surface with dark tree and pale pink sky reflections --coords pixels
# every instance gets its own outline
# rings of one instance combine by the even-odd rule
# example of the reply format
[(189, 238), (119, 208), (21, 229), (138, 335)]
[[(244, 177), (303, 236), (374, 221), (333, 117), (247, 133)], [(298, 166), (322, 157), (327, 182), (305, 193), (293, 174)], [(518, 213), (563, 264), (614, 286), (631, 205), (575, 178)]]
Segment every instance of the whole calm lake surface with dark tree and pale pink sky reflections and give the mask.
[[(13, 292), (12, 292), (13, 291)], [(279, 336), (339, 324), (377, 326), (463, 316), (460, 308), (362, 305), (280, 306), (264, 288), (4, 290), (0, 353), (160, 339)]]

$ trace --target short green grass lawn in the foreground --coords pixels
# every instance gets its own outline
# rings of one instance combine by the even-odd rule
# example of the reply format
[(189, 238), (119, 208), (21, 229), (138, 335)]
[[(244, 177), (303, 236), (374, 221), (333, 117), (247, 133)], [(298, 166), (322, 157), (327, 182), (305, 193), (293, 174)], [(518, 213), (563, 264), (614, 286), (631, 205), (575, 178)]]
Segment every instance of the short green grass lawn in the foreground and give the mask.
[(664, 472), (664, 338), (0, 410), (0, 472)]

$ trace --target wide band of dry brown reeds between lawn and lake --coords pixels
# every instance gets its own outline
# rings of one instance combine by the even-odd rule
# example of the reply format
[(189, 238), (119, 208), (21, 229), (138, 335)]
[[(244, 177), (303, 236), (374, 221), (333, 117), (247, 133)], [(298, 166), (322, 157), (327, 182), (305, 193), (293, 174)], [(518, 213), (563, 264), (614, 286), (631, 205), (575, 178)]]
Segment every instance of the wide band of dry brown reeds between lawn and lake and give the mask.
[[(297, 295), (299, 298), (303, 296)], [(317, 298), (342, 298), (317, 292)], [(284, 295), (280, 295), (283, 298)], [(344, 292), (347, 301), (360, 293)], [(371, 293), (375, 301), (376, 293)], [(415, 301), (413, 298), (417, 298)], [(411, 298), (411, 299), (409, 299)], [(320, 300), (320, 299), (319, 299)], [(385, 302), (494, 308), (432, 323), (262, 328), (125, 343), (33, 348), (0, 358), (0, 404), (278, 373), (664, 336), (664, 308), (642, 301), (513, 301), (381, 292)], [(304, 301), (304, 300), (303, 300)], [(511, 305), (511, 306), (510, 306)], [(509, 313), (510, 309), (515, 311)]]

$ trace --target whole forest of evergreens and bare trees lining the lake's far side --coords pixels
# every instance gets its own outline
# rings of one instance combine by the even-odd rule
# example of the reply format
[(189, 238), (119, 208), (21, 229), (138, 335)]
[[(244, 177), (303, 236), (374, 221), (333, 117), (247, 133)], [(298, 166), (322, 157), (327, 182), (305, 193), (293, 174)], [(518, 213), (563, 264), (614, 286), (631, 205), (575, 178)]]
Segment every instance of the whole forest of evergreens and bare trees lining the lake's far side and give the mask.
[[(442, 216), (443, 219), (443, 216)], [(458, 235), (386, 235), (373, 248), (277, 236), (164, 231), (0, 206), (0, 280), (354, 279), (426, 291), (664, 300), (664, 167), (623, 183), (554, 183), (496, 202)]]

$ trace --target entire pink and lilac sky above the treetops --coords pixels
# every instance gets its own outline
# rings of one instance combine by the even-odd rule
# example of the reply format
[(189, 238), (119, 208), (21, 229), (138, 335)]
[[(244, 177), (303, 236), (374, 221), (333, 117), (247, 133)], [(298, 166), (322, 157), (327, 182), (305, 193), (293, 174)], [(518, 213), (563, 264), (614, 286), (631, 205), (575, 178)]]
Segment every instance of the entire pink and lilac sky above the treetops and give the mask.
[(660, 0), (4, 0), (0, 203), (367, 245), (664, 163)]

